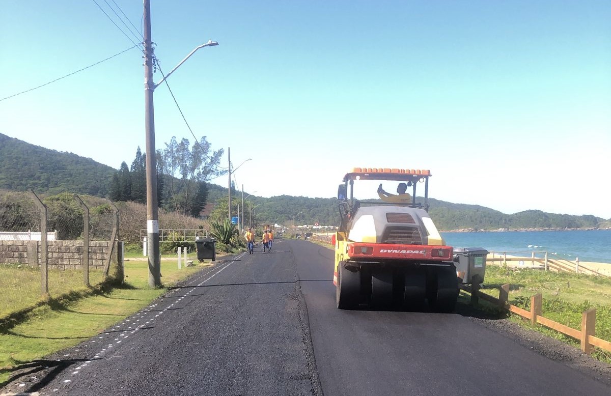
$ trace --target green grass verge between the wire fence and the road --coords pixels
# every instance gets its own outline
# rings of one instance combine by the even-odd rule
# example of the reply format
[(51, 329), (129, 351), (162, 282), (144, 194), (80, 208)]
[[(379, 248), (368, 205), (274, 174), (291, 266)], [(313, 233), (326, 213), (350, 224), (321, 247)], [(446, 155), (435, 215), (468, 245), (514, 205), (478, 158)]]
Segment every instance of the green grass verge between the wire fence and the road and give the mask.
[[(133, 256), (136, 257), (139, 256)], [(10, 379), (13, 367), (41, 359), (99, 334), (146, 307), (166, 293), (167, 287), (208, 266), (207, 263), (191, 267), (183, 265), (178, 270), (177, 260), (162, 259), (164, 287), (150, 288), (147, 261), (126, 261), (122, 287), (108, 291), (90, 290), (92, 295), (68, 293), (35, 308), (22, 323), (0, 328), (0, 386)]]

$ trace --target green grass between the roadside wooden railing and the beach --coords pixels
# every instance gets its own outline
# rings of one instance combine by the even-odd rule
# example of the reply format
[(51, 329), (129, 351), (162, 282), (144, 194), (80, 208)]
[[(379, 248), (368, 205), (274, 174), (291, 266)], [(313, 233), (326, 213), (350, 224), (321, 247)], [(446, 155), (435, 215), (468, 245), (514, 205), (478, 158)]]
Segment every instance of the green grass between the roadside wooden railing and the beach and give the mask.
[[(596, 308), (596, 337), (611, 341), (611, 278), (609, 277), (490, 265), (486, 267), (485, 280), (481, 292), (498, 297), (500, 285), (510, 284), (509, 302), (527, 310), (530, 310), (530, 297), (541, 293), (543, 317), (577, 330), (581, 329), (582, 313), (590, 308)], [(579, 341), (573, 337), (565, 336), (545, 326), (531, 326), (529, 321), (523, 320), (519, 315), (511, 315), (511, 320), (579, 348)], [(596, 348), (593, 356), (611, 362), (611, 352)]]

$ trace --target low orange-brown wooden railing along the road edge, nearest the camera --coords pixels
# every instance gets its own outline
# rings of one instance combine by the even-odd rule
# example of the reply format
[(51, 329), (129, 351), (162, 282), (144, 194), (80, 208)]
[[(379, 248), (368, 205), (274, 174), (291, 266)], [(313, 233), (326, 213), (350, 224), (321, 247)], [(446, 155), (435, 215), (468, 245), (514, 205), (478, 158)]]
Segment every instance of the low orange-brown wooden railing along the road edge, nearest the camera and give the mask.
[(550, 320), (543, 317), (543, 296), (536, 294), (530, 297), (530, 311), (522, 309), (508, 303), (509, 297), (509, 284), (504, 284), (500, 287), (499, 298), (480, 292), (478, 285), (470, 287), (469, 285), (461, 285), (461, 289), (471, 293), (471, 302), (477, 304), (479, 298), (488, 301), (489, 303), (495, 304), (503, 309), (507, 309), (514, 314), (520, 315), (522, 318), (530, 320), (532, 325), (537, 323), (547, 328), (554, 329), (555, 331), (566, 334), (566, 336), (573, 337), (574, 339), (580, 340), (581, 350), (585, 353), (592, 353), (594, 347), (601, 348), (602, 350), (611, 352), (611, 342), (599, 339), (595, 336), (596, 334), (596, 309), (588, 309), (582, 313), (581, 329), (573, 329), (569, 326), (562, 325), (556, 321)]

